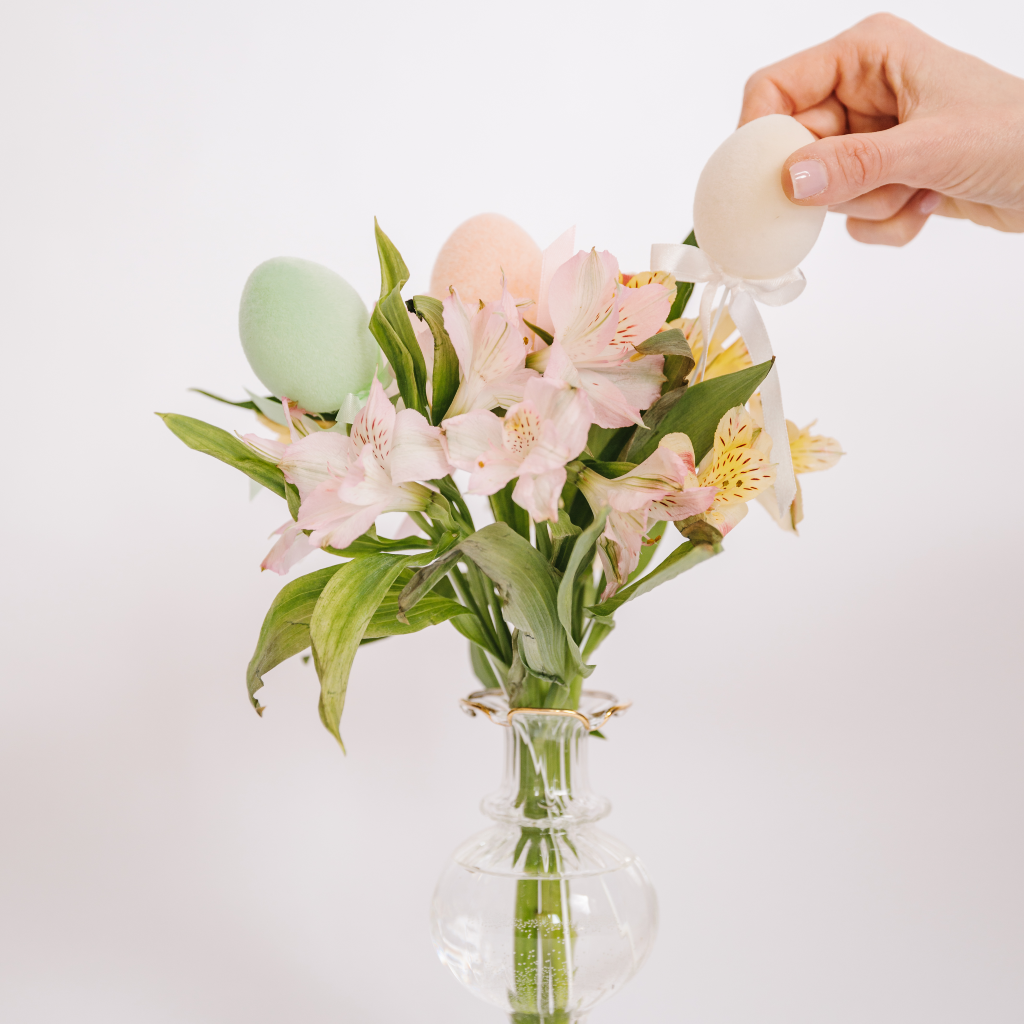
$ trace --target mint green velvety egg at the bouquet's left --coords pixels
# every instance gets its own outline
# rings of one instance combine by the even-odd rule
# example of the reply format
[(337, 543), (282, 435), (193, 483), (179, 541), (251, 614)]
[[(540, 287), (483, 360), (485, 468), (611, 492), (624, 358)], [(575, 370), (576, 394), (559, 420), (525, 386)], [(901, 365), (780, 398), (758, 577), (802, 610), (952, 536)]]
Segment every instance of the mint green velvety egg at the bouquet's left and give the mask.
[(249, 275), (239, 334), (253, 372), (279, 398), (309, 413), (335, 413), (365, 392), (379, 349), (355, 289), (330, 267), (278, 256)]

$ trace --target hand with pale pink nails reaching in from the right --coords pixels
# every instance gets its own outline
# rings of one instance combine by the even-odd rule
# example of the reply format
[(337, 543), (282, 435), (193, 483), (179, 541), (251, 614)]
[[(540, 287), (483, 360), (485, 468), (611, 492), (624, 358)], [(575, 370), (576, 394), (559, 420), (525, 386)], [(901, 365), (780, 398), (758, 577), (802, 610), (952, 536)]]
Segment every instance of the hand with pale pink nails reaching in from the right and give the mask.
[(820, 140), (782, 187), (848, 214), (859, 242), (902, 246), (933, 213), (1024, 231), (1024, 80), (874, 14), (754, 75), (745, 124), (790, 114)]

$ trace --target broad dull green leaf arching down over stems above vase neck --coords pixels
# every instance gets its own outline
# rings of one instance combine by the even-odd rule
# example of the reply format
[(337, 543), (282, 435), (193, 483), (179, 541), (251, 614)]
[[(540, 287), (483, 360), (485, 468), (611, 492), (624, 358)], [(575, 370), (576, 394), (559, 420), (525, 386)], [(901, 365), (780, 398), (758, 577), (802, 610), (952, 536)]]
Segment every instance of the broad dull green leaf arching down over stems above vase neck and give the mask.
[(558, 591), (544, 556), (507, 523), (495, 522), (459, 545), (495, 584), (507, 622), (522, 639), (526, 667), (565, 680), (574, 658), (558, 618)]

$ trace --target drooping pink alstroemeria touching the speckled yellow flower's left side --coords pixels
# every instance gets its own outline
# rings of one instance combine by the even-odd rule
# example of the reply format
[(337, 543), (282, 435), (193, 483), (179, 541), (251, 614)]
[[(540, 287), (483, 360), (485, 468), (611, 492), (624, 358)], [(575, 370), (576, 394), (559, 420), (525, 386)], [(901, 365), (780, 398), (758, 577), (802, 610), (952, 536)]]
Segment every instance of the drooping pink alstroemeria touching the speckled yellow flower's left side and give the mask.
[(717, 487), (701, 487), (686, 434), (666, 434), (657, 450), (639, 466), (609, 480), (592, 469), (580, 474), (580, 489), (595, 512), (608, 508), (597, 550), (607, 586), (605, 601), (628, 580), (640, 561), (644, 535), (653, 521), (688, 519), (707, 511)]

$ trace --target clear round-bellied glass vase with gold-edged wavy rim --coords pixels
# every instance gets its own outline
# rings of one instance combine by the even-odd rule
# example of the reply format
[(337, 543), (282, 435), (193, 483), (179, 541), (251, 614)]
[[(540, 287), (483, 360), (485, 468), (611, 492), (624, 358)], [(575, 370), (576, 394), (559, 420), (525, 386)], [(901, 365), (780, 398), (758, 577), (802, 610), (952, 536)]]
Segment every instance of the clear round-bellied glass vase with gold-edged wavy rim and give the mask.
[(506, 726), (505, 777), (481, 807), (494, 824), (444, 868), (434, 948), (470, 991), (514, 1024), (580, 1024), (650, 952), (657, 902), (634, 854), (596, 827), (609, 811), (587, 778), (590, 734), (625, 710), (584, 691), (579, 711), (463, 701)]

